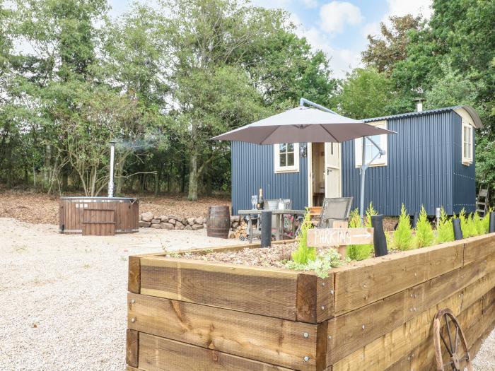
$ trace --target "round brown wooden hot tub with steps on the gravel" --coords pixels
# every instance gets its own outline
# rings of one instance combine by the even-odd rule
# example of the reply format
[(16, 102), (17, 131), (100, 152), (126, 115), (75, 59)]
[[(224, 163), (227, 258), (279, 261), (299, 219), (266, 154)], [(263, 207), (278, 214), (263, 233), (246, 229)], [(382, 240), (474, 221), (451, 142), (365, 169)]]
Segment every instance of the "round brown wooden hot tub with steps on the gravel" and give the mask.
[(124, 197), (60, 197), (59, 232), (115, 235), (139, 231), (139, 201)]

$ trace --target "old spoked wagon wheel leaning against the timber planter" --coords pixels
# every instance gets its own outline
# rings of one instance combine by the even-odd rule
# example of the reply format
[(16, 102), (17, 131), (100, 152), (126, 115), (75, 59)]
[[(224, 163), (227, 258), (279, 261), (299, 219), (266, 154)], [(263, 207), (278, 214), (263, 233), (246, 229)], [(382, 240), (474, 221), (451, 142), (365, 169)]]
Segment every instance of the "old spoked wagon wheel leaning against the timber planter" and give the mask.
[[(433, 319), (433, 342), (435, 344), (436, 370), (462, 371), (467, 369), (467, 371), (472, 371), (466, 338), (458, 319), (448, 308), (439, 310)], [(444, 362), (443, 353), (445, 350), (448, 359)]]

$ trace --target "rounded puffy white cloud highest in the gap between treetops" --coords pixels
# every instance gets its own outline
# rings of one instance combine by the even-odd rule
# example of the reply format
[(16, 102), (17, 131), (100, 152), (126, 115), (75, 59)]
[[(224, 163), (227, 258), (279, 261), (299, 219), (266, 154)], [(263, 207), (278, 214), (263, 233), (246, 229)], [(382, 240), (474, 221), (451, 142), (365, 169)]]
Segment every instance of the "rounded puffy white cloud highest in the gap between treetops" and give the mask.
[(327, 33), (342, 33), (344, 26), (359, 25), (361, 10), (347, 1), (331, 1), (320, 8), (320, 27)]

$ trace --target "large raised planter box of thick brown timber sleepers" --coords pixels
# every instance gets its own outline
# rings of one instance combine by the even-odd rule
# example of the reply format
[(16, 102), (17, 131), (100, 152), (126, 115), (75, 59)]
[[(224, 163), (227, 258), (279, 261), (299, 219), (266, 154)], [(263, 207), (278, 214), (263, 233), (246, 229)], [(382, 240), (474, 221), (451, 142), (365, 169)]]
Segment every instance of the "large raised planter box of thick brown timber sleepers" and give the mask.
[(458, 316), (474, 357), (495, 325), (494, 287), (495, 234), (368, 259), (328, 278), (129, 257), (127, 370), (434, 370), (436, 311)]

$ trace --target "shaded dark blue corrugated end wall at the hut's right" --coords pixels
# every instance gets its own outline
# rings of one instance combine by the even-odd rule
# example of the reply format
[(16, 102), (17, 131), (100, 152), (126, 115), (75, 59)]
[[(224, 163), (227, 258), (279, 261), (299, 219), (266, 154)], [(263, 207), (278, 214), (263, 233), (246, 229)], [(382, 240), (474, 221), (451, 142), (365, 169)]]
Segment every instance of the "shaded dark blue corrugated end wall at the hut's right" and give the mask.
[[(473, 163), (462, 165), (462, 120), (453, 113), (454, 126), (454, 163), (453, 163), (453, 213), (459, 213), (465, 208), (467, 213), (476, 211), (476, 180)], [(474, 148), (474, 136), (473, 136)]]

